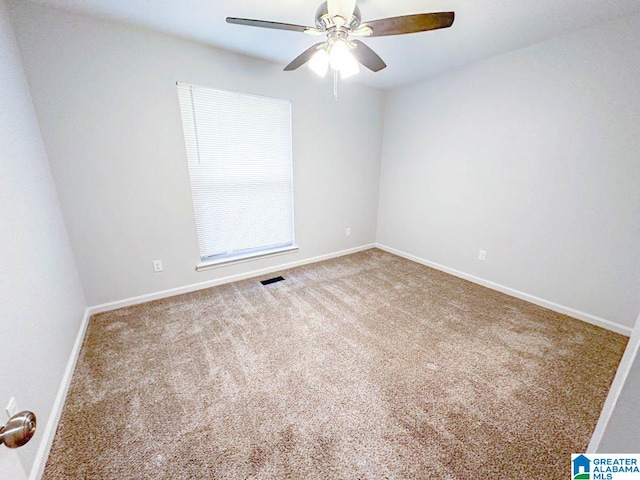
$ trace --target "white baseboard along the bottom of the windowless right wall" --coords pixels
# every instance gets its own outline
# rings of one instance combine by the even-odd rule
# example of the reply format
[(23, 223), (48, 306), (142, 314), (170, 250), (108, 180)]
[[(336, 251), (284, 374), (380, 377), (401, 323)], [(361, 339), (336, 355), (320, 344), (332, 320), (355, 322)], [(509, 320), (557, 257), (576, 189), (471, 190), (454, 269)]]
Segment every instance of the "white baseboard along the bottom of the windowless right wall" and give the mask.
[(380, 250), (384, 250), (385, 252), (398, 255), (399, 257), (403, 257), (403, 258), (406, 258), (407, 260), (411, 260), (416, 263), (426, 265), (427, 267), (435, 268), (436, 270), (440, 270), (441, 272), (448, 273), (450, 275), (453, 275), (454, 277), (459, 277), (464, 280), (469, 280), (470, 282), (477, 283), (478, 285), (482, 285), (483, 287), (487, 287), (492, 290), (505, 293), (512, 297), (519, 298), (520, 300), (524, 300), (529, 303), (534, 303), (541, 307), (548, 308), (549, 310), (553, 310), (554, 312), (562, 313), (564, 315), (577, 318), (578, 320), (582, 320), (584, 322), (591, 323), (592, 325), (596, 325), (598, 327), (611, 330), (612, 332), (620, 333), (627, 337), (631, 335), (632, 329), (624, 325), (620, 325), (619, 323), (615, 323), (610, 320), (606, 320), (604, 318), (596, 317), (595, 315), (581, 312), (580, 310), (575, 310), (570, 307), (565, 307), (564, 305), (560, 305), (558, 303), (545, 300), (544, 298), (539, 298), (533, 295), (529, 295), (528, 293), (521, 292), (519, 290), (515, 290), (510, 287), (505, 287), (504, 285), (500, 285), (499, 283), (495, 283), (490, 280), (485, 280), (484, 278), (476, 277), (475, 275), (470, 275), (468, 273), (461, 272), (459, 270), (455, 270), (453, 268), (449, 268), (444, 265), (440, 265), (439, 263), (430, 262), (429, 260), (416, 257), (415, 255), (411, 255), (409, 253), (396, 250), (395, 248), (391, 248), (386, 245), (376, 243), (375, 246), (376, 248), (379, 248)]

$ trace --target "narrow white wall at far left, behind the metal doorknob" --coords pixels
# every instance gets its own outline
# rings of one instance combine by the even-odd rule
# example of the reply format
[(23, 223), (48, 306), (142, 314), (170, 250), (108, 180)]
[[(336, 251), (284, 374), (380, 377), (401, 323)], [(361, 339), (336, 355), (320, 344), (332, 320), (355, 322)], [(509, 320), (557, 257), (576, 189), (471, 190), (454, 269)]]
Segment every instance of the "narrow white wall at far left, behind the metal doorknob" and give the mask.
[[(28, 471), (86, 305), (3, 0), (0, 65), (0, 418), (11, 397), (36, 413)], [(0, 447), (0, 478), (10, 455)]]

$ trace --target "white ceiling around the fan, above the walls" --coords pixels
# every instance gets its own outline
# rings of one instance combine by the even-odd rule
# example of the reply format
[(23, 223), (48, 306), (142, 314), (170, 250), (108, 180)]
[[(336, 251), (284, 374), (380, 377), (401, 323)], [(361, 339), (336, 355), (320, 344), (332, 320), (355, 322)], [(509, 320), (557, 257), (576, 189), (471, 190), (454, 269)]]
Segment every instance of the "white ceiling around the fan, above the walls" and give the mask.
[[(149, 27), (273, 60), (283, 68), (318, 41), (302, 33), (230, 25), (225, 17), (314, 25), (321, 0), (32, 0), (34, 3)], [(358, 80), (391, 88), (621, 16), (640, 0), (359, 0), (364, 20), (456, 12), (451, 28), (364, 39), (387, 63)]]

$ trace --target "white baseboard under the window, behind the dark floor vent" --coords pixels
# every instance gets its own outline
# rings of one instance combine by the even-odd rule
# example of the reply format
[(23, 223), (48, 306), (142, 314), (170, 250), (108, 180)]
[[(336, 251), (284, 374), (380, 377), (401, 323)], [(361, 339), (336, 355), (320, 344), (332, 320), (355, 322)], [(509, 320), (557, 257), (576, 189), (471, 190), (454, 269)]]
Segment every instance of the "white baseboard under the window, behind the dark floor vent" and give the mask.
[(140, 295), (138, 297), (126, 298), (124, 300), (118, 300), (116, 302), (103, 303), (101, 305), (95, 305), (89, 307), (89, 316), (96, 313), (109, 312), (111, 310), (117, 310), (118, 308), (130, 307), (132, 305), (138, 305), (140, 303), (151, 302), (153, 300), (160, 300), (162, 298), (173, 297), (175, 295), (182, 295), (183, 293), (195, 292), (197, 290), (203, 290), (205, 288), (217, 287), (218, 285), (224, 285), (225, 283), (237, 282), (239, 280), (246, 280), (247, 278), (259, 277), (268, 273), (279, 272), (288, 268), (299, 267), (301, 265), (307, 265), (310, 263), (321, 262), (323, 260), (329, 260), (331, 258), (342, 257), (352, 253), (362, 252), (374, 248), (375, 244), (361, 245), (359, 247), (350, 248), (347, 250), (341, 250), (339, 252), (328, 253), (326, 255), (319, 255), (317, 257), (306, 258), (304, 260), (298, 260), (296, 262), (285, 263), (276, 265), (273, 267), (263, 268), (260, 270), (252, 270), (246, 273), (239, 273), (237, 275), (230, 275), (227, 277), (216, 278), (214, 280), (208, 280), (206, 282), (194, 283), (192, 285), (186, 285), (184, 287), (172, 288), (170, 290), (163, 290), (160, 292), (149, 293), (146, 295)]

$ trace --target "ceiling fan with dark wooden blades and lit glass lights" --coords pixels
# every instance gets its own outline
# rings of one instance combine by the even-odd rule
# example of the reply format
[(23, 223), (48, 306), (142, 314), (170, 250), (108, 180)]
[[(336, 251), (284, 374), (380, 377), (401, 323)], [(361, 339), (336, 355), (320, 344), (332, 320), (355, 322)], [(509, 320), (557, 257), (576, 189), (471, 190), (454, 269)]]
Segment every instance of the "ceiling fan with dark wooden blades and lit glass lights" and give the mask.
[(362, 22), (361, 18), (355, 0), (327, 0), (316, 11), (315, 27), (236, 17), (227, 17), (227, 22), (326, 35), (325, 41), (309, 47), (284, 69), (295, 70), (309, 62), (309, 67), (321, 76), (331, 67), (334, 74), (340, 72), (341, 78), (346, 78), (358, 72), (358, 63), (373, 72), (387, 66), (376, 52), (351, 37), (383, 37), (447, 28), (453, 24), (454, 12), (418, 13), (368, 22)]

